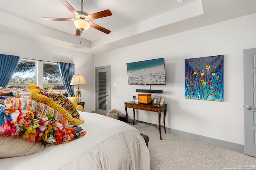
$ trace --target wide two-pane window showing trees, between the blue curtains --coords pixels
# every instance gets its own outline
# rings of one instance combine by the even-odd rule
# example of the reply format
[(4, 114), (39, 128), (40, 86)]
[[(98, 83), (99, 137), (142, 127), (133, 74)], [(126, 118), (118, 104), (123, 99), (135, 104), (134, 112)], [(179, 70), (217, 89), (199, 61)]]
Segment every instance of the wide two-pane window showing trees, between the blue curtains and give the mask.
[(29, 84), (38, 84), (49, 92), (67, 94), (56, 63), (20, 59), (7, 88), (23, 96), (29, 96)]

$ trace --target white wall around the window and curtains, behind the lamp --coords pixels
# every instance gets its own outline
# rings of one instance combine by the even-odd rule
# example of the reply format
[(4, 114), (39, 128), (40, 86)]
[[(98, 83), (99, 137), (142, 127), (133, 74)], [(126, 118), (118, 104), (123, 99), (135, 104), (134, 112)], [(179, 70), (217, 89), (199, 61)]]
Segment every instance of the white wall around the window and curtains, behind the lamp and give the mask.
[(0, 53), (27, 59), (74, 63), (75, 74), (83, 74), (87, 82), (81, 85), (81, 102), (85, 102), (84, 111), (94, 111), (94, 55), (1, 32)]

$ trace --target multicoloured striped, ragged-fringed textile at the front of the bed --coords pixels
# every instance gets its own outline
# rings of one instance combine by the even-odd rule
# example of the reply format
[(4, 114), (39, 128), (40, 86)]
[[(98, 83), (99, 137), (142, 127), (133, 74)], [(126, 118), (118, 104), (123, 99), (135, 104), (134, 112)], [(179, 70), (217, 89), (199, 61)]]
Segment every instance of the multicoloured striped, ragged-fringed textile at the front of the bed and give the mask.
[(0, 87), (0, 134), (59, 145), (82, 137), (86, 131), (56, 109)]

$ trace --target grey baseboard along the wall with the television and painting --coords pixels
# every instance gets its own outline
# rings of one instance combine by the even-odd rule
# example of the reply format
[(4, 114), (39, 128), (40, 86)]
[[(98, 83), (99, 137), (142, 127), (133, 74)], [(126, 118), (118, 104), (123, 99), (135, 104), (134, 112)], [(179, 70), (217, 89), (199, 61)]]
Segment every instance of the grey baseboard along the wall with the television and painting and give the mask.
[[(129, 119), (129, 121), (132, 121), (132, 120)], [(140, 125), (140, 126), (143, 126), (143, 127), (148, 127), (148, 128), (151, 128), (151, 129), (156, 129), (156, 127), (154, 127), (152, 125), (145, 124), (145, 123), (136, 123), (136, 125)], [(161, 132), (162, 133), (164, 132), (163, 127), (161, 128)], [(193, 133), (179, 131), (179, 130), (171, 129), (171, 128), (167, 128), (167, 127), (166, 127), (166, 133), (171, 133), (173, 135), (177, 135), (177, 136), (180, 136), (180, 137), (186, 137), (186, 138), (189, 138), (189, 139), (194, 139), (196, 141), (210, 143), (212, 145), (222, 147), (222, 148), (227, 148), (227, 149), (237, 150), (239, 152), (244, 152), (244, 145), (240, 145), (240, 144), (237, 144), (237, 143), (222, 141), (222, 140), (219, 140), (219, 139), (214, 139), (214, 138), (210, 138), (210, 137), (196, 135), (196, 134), (193, 134)]]

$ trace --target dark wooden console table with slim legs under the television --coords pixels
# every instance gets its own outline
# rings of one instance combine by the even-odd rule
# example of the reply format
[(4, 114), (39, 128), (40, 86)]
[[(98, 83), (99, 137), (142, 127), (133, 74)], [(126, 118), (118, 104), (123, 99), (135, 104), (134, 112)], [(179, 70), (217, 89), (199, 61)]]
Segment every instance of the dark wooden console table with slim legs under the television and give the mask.
[[(128, 122), (127, 107), (133, 109), (133, 121), (131, 121), (131, 122)], [(154, 127), (156, 127), (159, 130), (160, 139), (162, 140), (162, 135), (161, 135), (161, 126), (162, 126), (161, 125), (161, 113), (162, 113), (162, 111), (164, 111), (164, 126), (163, 127), (164, 127), (164, 132), (166, 133), (165, 116), (166, 116), (166, 111), (167, 111), (167, 104), (163, 104), (163, 106), (156, 106), (156, 105), (152, 105), (152, 104), (139, 104), (138, 102), (124, 102), (124, 109), (125, 109), (125, 112), (126, 112), (126, 123), (133, 123), (134, 124), (134, 122), (139, 122), (139, 123), (146, 123), (146, 124), (149, 124), (149, 125), (153, 125)], [(158, 125), (155, 125), (153, 123), (140, 121), (140, 120), (136, 120), (135, 119), (135, 109), (157, 112), (158, 113)]]

